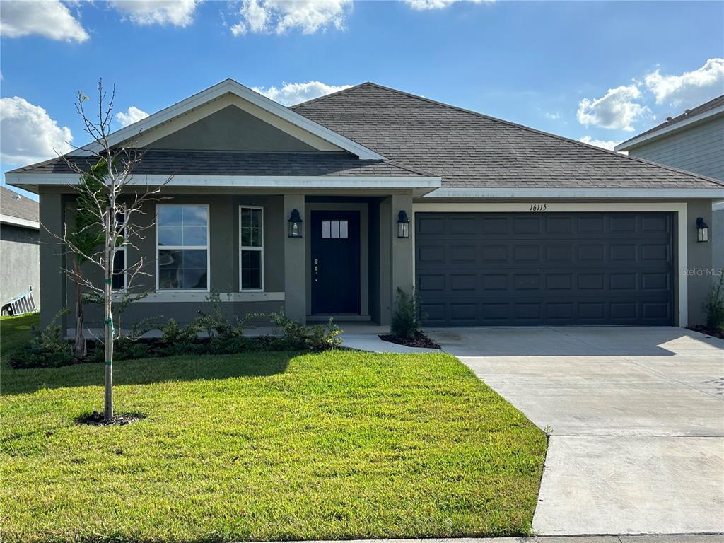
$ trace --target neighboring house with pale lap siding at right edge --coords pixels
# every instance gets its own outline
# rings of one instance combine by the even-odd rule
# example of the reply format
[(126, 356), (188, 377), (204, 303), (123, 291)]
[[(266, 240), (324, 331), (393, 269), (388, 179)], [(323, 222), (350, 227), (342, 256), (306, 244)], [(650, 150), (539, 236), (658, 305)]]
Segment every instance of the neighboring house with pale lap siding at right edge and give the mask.
[[(724, 95), (678, 117), (619, 143), (616, 151), (628, 151), (660, 164), (724, 180)], [(713, 265), (724, 268), (724, 201), (713, 204)]]

